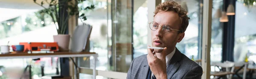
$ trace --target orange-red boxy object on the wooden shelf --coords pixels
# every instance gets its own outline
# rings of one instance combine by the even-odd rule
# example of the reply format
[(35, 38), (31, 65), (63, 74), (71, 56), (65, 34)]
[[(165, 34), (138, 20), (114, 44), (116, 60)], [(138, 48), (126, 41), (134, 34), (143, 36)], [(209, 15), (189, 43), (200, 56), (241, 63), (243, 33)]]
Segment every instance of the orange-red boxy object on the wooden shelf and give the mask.
[(24, 52), (59, 51), (57, 42), (20, 42), (20, 45), (24, 45)]

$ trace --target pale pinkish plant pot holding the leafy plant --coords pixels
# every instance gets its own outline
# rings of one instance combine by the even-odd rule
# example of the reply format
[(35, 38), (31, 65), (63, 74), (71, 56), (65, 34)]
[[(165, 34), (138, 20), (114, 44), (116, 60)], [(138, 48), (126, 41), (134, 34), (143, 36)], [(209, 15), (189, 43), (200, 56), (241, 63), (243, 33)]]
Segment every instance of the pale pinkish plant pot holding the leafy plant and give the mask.
[(54, 42), (58, 42), (60, 51), (69, 51), (70, 35), (58, 34), (53, 35)]

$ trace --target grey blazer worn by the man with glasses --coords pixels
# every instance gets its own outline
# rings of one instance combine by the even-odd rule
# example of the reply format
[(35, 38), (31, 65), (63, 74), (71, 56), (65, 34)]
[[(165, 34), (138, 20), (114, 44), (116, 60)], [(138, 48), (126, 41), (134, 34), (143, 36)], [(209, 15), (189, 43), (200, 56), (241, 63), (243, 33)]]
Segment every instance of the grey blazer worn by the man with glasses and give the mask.
[[(146, 79), (149, 72), (147, 55), (135, 58), (127, 73), (127, 79)], [(167, 66), (168, 79), (201, 79), (203, 69), (176, 48)]]

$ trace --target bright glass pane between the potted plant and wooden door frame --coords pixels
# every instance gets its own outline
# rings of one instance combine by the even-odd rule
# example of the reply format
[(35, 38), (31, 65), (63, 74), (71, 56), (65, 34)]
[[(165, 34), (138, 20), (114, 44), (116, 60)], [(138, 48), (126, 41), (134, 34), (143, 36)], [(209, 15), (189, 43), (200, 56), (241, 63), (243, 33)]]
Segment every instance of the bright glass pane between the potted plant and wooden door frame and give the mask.
[[(84, 13), (87, 20), (83, 23), (93, 26), (90, 34), (90, 52), (96, 52), (98, 59), (96, 60), (97, 70), (108, 70), (108, 52), (109, 41), (111, 41), (111, 0), (86, 0), (79, 4), (79, 8), (94, 5), (93, 10), (84, 10), (80, 14)], [(83, 25), (81, 20), (78, 20), (79, 25)], [(79, 57), (79, 65), (81, 67), (93, 67), (93, 57)], [(90, 64), (88, 64), (90, 63)]]

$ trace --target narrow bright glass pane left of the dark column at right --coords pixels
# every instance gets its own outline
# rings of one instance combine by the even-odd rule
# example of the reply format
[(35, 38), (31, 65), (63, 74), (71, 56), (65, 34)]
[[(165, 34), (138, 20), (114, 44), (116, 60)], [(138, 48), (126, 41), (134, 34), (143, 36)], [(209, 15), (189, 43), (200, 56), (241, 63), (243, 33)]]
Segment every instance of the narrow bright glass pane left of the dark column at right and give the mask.
[(222, 5), (223, 0), (212, 0), (211, 62), (221, 62), (222, 59), (223, 25), (217, 17), (218, 9), (221, 9)]

